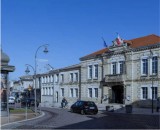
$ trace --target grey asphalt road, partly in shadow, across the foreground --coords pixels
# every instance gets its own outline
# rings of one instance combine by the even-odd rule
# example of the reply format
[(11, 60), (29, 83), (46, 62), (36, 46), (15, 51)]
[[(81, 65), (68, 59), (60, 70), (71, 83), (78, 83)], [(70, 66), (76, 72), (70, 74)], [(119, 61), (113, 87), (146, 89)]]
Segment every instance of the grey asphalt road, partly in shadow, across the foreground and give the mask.
[(107, 113), (80, 115), (68, 109), (42, 108), (45, 116), (2, 129), (158, 129), (159, 116)]

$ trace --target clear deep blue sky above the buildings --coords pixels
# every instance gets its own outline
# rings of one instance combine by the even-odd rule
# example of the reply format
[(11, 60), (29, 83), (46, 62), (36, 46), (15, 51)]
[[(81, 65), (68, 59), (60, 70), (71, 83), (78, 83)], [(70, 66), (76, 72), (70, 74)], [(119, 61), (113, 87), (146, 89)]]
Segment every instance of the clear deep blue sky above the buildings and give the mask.
[[(80, 63), (119, 33), (130, 40), (159, 35), (159, 0), (1, 0), (1, 47), (15, 71), (9, 80)], [(47, 54), (41, 45), (49, 44)], [(37, 49), (37, 59), (35, 53)], [(30, 67), (30, 74), (33, 70)]]

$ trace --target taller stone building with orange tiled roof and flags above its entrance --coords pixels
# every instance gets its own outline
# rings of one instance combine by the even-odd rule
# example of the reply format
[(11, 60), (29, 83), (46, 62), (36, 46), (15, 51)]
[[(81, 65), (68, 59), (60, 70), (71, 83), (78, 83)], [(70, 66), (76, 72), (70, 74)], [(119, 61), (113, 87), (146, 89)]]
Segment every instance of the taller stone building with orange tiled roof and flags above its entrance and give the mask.
[[(94, 99), (92, 86), (98, 79), (102, 102), (150, 106), (152, 96), (154, 101), (160, 96), (160, 37), (148, 35), (123, 40), (119, 45), (116, 40), (110, 47), (80, 59), (88, 84), (84, 88), (88, 93), (83, 96)], [(99, 75), (96, 79), (95, 73)]]

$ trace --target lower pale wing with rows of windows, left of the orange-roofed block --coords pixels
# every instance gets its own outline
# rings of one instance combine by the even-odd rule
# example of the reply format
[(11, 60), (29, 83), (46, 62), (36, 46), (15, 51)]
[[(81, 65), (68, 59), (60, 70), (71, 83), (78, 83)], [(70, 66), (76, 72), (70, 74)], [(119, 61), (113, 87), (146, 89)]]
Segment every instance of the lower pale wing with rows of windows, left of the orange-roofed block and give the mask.
[(80, 65), (73, 65), (41, 74), (41, 103), (44, 106), (60, 106), (63, 97), (69, 103), (79, 99)]

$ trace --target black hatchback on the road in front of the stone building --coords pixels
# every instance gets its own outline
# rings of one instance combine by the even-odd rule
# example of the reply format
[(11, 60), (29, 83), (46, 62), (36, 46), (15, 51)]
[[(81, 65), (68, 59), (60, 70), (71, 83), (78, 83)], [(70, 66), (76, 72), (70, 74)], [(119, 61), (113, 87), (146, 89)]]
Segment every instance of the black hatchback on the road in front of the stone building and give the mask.
[(82, 115), (98, 113), (98, 108), (92, 101), (77, 101), (71, 106), (70, 110), (71, 112), (81, 113)]

